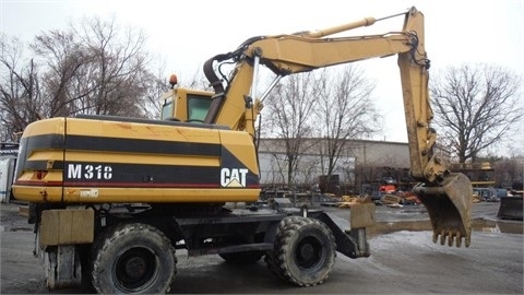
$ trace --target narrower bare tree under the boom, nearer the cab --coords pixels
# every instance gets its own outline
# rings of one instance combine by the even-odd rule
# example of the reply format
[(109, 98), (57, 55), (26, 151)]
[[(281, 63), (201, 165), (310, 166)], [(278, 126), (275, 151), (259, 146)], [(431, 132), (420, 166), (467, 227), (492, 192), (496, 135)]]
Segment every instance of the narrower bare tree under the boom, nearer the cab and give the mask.
[(275, 133), (283, 140), (287, 163), (287, 185), (294, 186), (300, 155), (310, 146), (306, 139), (312, 134), (311, 116), (317, 107), (313, 99), (311, 72), (287, 76), (275, 91), (267, 96), (270, 119)]

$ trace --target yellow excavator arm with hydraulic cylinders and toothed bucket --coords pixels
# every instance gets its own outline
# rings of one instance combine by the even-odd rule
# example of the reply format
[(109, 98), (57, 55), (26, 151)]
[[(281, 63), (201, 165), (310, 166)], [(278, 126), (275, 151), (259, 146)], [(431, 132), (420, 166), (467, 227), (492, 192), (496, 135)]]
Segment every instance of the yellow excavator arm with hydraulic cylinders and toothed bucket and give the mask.
[[(404, 15), (400, 32), (382, 35), (326, 37), (377, 21)], [(408, 134), (412, 175), (420, 182), (414, 192), (428, 209), (433, 227), (433, 241), (460, 247), (471, 243), (471, 205), (473, 189), (469, 179), (452, 174), (443, 156), (436, 152), (437, 134), (430, 127), (433, 114), (429, 104), (429, 59), (425, 50), (424, 14), (415, 8), (376, 20), (361, 21), (318, 32), (252, 37), (235, 51), (218, 55), (204, 63), (204, 74), (215, 95), (206, 123), (229, 126), (254, 137), (254, 121), (262, 109), (264, 96), (278, 80), (288, 74), (348, 63), (376, 57), (398, 56), (405, 119)], [(215, 62), (218, 64), (215, 67)], [(235, 64), (228, 76), (222, 64)], [(258, 71), (265, 66), (276, 74), (267, 91), (255, 97)], [(222, 74), (222, 78), (216, 72)]]

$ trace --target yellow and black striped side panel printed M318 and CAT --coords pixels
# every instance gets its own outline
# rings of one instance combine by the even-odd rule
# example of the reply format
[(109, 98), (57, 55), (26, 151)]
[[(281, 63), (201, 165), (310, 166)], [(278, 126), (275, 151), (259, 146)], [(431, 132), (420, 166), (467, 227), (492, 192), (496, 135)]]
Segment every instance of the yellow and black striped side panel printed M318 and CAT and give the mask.
[[(29, 155), (35, 151), (25, 152), (25, 173), (17, 179), (17, 194), (51, 202), (258, 199), (259, 173), (249, 134), (154, 122), (67, 119), (63, 144), (55, 144), (56, 134), (38, 135), (43, 142), (38, 160), (53, 161), (47, 161), (46, 167), (44, 163), (36, 166), (47, 168), (49, 179), (35, 181), (37, 163)], [(62, 158), (57, 160), (59, 155)]]

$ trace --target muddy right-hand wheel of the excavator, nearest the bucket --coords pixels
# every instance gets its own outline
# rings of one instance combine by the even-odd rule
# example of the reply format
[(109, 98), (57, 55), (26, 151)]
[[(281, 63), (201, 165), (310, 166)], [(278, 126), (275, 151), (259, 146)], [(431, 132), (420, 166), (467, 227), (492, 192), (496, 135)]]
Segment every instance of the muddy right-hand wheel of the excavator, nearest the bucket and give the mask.
[(289, 216), (281, 222), (275, 250), (266, 253), (265, 261), (276, 276), (297, 286), (314, 286), (330, 276), (335, 257), (335, 238), (325, 224)]

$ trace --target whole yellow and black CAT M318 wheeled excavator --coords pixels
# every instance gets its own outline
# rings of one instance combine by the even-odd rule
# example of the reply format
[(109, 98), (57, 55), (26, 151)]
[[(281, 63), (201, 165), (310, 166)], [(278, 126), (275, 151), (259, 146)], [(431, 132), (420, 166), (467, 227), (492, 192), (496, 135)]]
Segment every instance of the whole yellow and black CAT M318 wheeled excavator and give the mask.
[[(322, 31), (247, 39), (204, 63), (213, 91), (172, 81), (160, 120), (82, 115), (27, 126), (13, 192), (28, 201), (51, 290), (87, 283), (99, 293), (166, 293), (177, 255), (219, 255), (297, 286), (323, 283), (335, 252), (369, 257), (374, 205), (350, 210), (341, 228), (313, 208), (236, 208), (260, 194), (255, 121), (279, 79), (319, 68), (397, 55), (414, 192), (426, 205), (433, 241), (471, 243), (472, 186), (436, 152), (428, 97), (424, 15), (405, 13), (402, 31), (330, 37), (382, 19)], [(225, 74), (221, 67), (233, 64)], [(275, 80), (259, 97), (258, 72)]]

